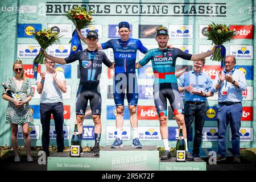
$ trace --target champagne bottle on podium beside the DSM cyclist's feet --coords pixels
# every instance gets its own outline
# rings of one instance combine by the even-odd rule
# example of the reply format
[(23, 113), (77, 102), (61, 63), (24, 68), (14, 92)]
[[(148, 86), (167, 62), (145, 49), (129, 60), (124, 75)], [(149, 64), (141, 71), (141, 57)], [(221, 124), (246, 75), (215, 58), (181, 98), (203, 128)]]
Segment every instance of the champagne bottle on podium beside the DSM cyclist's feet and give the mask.
[(75, 130), (71, 138), (71, 156), (80, 157), (80, 143), (81, 139), (79, 137), (77, 129), (77, 121), (75, 121)]

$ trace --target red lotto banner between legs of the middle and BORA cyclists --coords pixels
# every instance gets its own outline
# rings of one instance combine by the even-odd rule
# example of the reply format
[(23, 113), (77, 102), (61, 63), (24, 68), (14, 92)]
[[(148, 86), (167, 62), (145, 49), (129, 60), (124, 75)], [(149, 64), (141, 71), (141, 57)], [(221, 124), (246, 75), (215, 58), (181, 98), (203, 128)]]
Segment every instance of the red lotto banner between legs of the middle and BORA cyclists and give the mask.
[(155, 106), (138, 106), (138, 119), (159, 119)]

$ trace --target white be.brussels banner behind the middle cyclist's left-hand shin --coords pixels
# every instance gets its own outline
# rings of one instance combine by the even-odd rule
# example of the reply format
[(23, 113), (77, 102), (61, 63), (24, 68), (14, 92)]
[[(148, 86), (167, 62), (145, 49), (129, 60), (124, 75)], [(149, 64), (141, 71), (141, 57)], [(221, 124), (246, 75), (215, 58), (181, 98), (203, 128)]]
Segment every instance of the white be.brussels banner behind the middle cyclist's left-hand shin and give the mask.
[[(115, 140), (117, 138), (117, 128), (115, 126), (106, 126), (106, 140)], [(131, 139), (131, 127), (123, 126), (122, 140)]]

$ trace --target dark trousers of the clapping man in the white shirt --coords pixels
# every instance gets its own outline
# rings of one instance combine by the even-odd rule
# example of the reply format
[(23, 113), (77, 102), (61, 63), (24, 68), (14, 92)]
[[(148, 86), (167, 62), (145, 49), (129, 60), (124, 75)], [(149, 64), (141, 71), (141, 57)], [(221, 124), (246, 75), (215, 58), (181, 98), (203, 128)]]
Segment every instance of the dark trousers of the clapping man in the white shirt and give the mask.
[(64, 150), (63, 103), (58, 102), (54, 104), (40, 104), (40, 119), (42, 124), (42, 145), (43, 145), (43, 151), (45, 151), (47, 155), (49, 154), (49, 130), (50, 130), (51, 114), (53, 115), (53, 119), (55, 123), (57, 151), (61, 152)]

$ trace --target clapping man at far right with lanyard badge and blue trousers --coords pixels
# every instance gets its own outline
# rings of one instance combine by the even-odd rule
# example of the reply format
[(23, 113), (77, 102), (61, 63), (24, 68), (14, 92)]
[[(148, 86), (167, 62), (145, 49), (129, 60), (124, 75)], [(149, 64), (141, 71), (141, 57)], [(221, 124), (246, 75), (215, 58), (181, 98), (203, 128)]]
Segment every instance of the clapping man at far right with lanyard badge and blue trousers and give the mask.
[(212, 92), (218, 92), (218, 156), (217, 161), (225, 160), (226, 129), (228, 123), (232, 133), (234, 163), (240, 163), (240, 126), (242, 117), (242, 91), (246, 90), (245, 75), (234, 69), (236, 58), (226, 56), (225, 70), (216, 76)]

